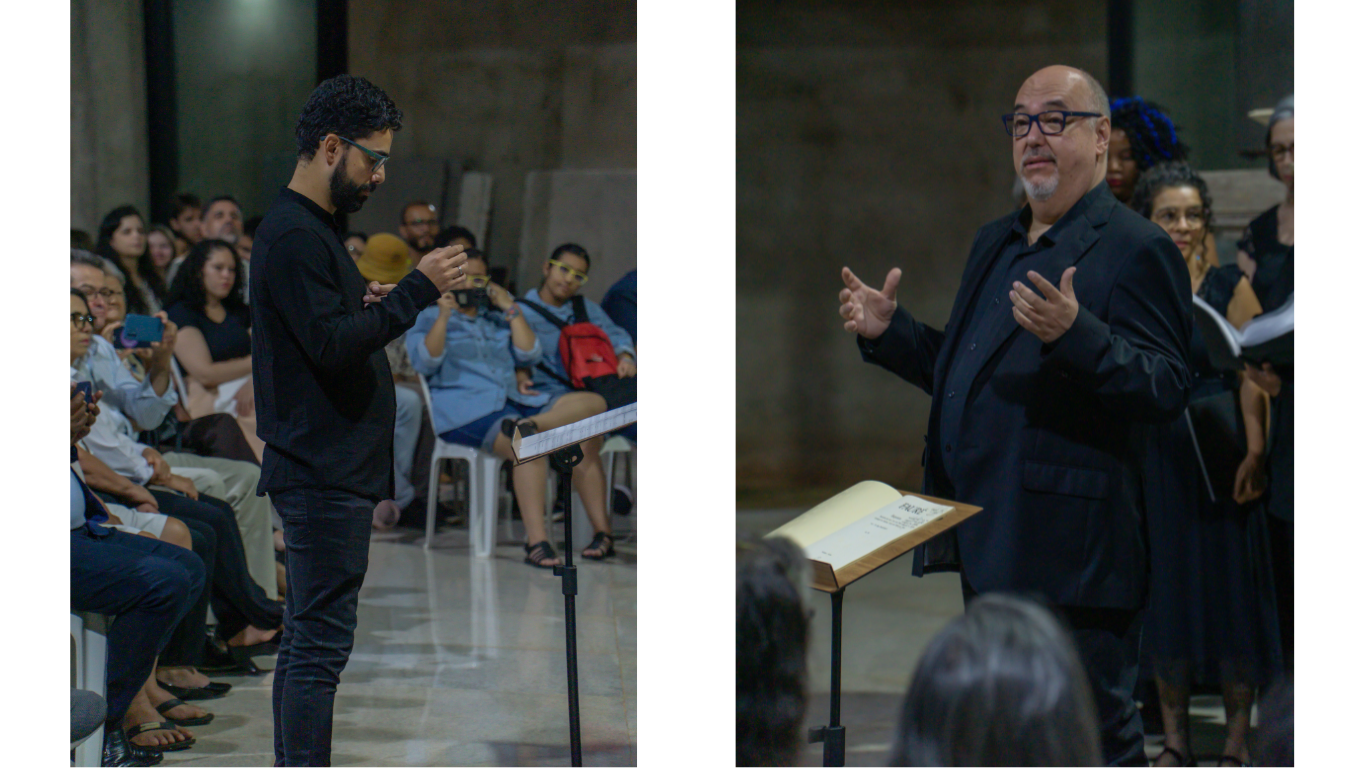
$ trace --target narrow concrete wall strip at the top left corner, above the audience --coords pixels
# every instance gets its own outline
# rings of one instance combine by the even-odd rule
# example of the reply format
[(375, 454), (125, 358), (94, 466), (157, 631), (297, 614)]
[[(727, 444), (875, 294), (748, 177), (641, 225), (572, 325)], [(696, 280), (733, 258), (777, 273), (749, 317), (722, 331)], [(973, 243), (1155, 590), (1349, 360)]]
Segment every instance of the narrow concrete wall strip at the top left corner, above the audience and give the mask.
[(71, 1), (71, 225), (96, 235), (108, 210), (148, 210), (142, 3)]

